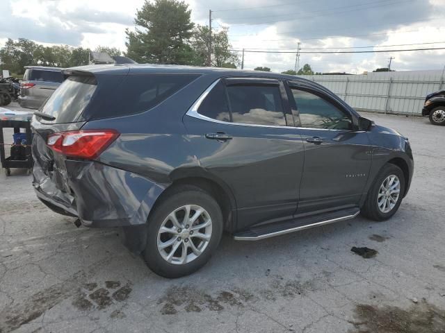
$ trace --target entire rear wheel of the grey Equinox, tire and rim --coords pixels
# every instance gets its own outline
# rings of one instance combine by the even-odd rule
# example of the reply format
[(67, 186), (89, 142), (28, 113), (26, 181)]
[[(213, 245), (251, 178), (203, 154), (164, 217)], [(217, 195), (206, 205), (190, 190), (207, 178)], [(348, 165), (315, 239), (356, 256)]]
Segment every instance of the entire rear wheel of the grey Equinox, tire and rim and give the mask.
[(199, 187), (177, 187), (149, 216), (147, 266), (164, 278), (189, 275), (206, 264), (223, 234), (216, 200)]

